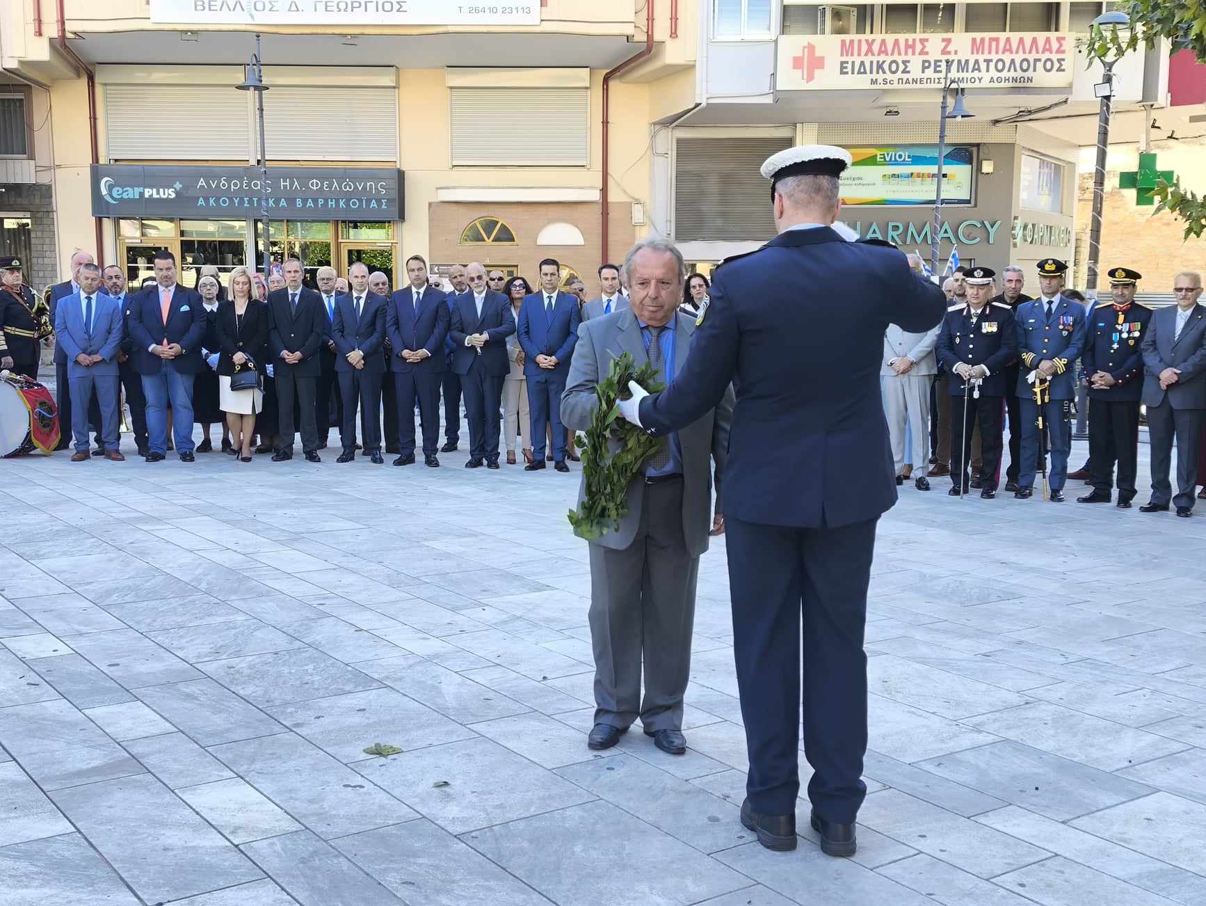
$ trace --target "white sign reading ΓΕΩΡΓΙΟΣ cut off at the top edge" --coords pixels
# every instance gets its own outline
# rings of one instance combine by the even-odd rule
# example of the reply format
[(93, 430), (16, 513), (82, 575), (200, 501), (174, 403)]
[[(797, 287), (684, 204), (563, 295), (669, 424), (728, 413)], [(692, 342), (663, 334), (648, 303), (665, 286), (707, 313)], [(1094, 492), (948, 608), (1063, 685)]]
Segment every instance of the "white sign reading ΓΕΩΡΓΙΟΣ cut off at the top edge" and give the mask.
[[(151, 0), (159, 25), (539, 25), (540, 0)], [(345, 29), (346, 30), (346, 29)]]

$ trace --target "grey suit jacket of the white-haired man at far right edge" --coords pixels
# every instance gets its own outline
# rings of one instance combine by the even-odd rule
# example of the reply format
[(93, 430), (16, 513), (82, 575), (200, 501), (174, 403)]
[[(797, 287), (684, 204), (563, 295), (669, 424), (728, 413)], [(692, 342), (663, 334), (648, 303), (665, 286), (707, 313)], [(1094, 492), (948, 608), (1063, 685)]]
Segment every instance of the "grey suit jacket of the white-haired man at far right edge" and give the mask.
[[(1206, 305), (1195, 305), (1189, 320), (1173, 340), (1177, 306), (1157, 309), (1143, 332), (1143, 404), (1160, 405), (1169, 399), (1173, 409), (1206, 409)], [(1160, 390), (1160, 372), (1176, 368), (1177, 382)]]

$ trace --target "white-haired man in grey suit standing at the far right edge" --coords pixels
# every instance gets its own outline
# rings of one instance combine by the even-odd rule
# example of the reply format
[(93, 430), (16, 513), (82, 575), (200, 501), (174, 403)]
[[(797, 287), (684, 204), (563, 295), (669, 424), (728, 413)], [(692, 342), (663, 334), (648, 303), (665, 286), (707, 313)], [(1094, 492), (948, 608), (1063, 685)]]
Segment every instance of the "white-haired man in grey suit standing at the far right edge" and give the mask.
[[(1152, 498), (1140, 513), (1165, 513), (1169, 501), (1177, 515), (1194, 509), (1198, 450), (1206, 419), (1206, 305), (1198, 304), (1202, 277), (1183, 270), (1172, 279), (1177, 304), (1158, 309), (1148, 321), (1143, 352), (1143, 405), (1152, 446)], [(1172, 496), (1169, 467), (1177, 442), (1177, 495)]]

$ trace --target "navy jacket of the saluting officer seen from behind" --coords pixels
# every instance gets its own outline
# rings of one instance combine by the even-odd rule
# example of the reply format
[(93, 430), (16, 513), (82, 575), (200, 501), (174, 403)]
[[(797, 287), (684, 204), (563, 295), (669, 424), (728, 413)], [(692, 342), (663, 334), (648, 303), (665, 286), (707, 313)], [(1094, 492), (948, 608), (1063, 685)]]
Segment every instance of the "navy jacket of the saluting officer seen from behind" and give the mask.
[(684, 428), (733, 384), (726, 515), (837, 527), (888, 510), (896, 479), (879, 390), (884, 331), (932, 328), (942, 291), (901, 252), (816, 227), (730, 258), (709, 294), (674, 384), (640, 403), (645, 429)]

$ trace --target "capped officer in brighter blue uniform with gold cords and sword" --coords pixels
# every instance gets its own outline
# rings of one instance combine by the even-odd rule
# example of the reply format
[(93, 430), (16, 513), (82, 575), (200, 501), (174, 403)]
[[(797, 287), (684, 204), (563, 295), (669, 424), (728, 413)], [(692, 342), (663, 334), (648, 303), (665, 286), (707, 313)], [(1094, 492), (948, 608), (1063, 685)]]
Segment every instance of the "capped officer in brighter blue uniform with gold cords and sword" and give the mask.
[[(1014, 497), (1034, 493), (1038, 470), (1038, 403), (1035, 384), (1047, 381), (1043, 427), (1048, 436), (1048, 484), (1053, 503), (1064, 502), (1067, 455), (1072, 449), (1072, 403), (1076, 399), (1076, 360), (1084, 349), (1084, 305), (1060, 294), (1067, 264), (1056, 258), (1038, 262), (1040, 297), (1018, 306), (1018, 356), (1021, 372), (1017, 394), (1021, 408), (1021, 469)], [(1091, 456), (1091, 454), (1090, 454)]]

